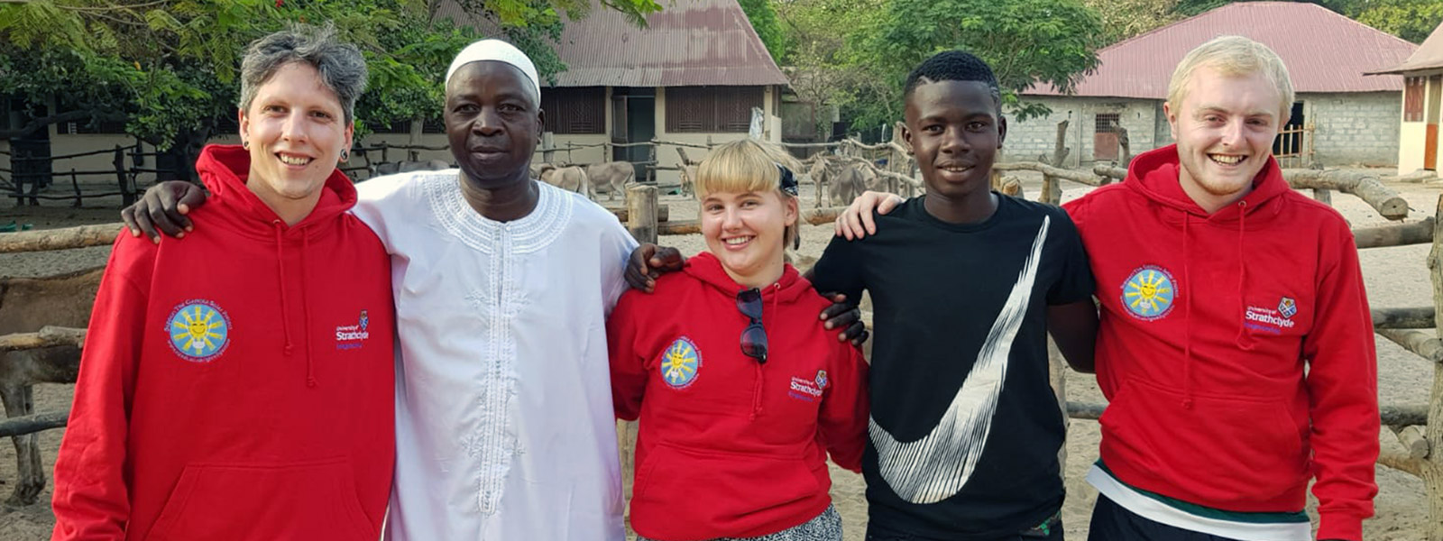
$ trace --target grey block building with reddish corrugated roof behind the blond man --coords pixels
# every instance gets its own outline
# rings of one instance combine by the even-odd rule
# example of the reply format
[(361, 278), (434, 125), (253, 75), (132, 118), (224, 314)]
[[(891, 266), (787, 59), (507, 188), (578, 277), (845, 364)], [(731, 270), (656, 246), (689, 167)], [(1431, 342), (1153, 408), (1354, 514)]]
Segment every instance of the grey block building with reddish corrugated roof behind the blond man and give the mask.
[(1172, 72), (1189, 50), (1222, 35), (1261, 42), (1287, 63), (1297, 98), (1273, 149), (1284, 166), (1397, 163), (1403, 78), (1364, 72), (1398, 65), (1417, 46), (1291, 1), (1234, 3), (1114, 43), (1072, 95), (1049, 85), (1022, 92), (1052, 114), (1009, 126), (1009, 159), (1051, 156), (1063, 120), (1071, 166), (1117, 162), (1124, 141), (1133, 156), (1172, 144), (1163, 113)]

